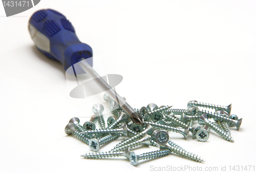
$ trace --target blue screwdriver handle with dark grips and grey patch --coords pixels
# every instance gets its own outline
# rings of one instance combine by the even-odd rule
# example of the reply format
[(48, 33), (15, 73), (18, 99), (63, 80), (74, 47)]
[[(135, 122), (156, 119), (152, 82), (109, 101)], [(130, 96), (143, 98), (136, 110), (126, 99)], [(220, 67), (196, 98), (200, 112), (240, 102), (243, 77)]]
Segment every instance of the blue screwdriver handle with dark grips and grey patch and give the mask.
[(89, 58), (87, 62), (93, 66), (92, 48), (79, 41), (74, 27), (63, 14), (52, 9), (36, 11), (29, 19), (29, 32), (37, 49), (61, 62), (65, 70), (81, 58)]

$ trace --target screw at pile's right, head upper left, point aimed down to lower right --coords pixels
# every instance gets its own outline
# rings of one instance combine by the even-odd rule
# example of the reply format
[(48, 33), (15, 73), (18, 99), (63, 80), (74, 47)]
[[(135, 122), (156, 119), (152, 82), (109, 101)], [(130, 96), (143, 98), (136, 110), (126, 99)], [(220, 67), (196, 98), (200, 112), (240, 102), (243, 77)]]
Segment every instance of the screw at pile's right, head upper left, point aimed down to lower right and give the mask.
[(223, 137), (224, 139), (234, 142), (234, 140), (232, 139), (232, 137), (230, 135), (228, 135), (226, 132), (222, 131), (219, 127), (217, 127), (214, 123), (210, 122), (207, 118), (207, 114), (203, 114), (201, 115), (201, 117), (198, 120), (198, 123), (200, 125), (205, 125), (207, 124), (213, 131), (215, 131), (217, 134), (219, 134), (221, 137)]

